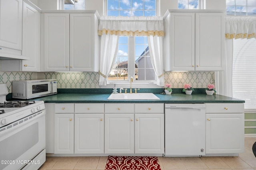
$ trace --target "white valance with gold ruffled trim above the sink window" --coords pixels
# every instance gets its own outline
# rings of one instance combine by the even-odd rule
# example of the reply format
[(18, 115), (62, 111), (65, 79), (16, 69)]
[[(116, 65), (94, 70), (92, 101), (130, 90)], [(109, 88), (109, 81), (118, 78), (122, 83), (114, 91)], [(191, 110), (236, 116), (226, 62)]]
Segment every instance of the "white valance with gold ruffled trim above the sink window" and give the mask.
[(110, 34), (121, 36), (164, 36), (164, 21), (155, 16), (102, 16), (98, 35)]

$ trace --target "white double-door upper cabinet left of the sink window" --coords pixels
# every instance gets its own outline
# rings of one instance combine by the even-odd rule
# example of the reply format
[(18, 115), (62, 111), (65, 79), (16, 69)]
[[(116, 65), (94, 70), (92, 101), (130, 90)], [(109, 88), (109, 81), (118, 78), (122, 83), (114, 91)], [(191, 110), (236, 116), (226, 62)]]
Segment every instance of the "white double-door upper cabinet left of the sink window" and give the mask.
[(98, 18), (88, 13), (42, 14), (42, 71), (98, 71)]

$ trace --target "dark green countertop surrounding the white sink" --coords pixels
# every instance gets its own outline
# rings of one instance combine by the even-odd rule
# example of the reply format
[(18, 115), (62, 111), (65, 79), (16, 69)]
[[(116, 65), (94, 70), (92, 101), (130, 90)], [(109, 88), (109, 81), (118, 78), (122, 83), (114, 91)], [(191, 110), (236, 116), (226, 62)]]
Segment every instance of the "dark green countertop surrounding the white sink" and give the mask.
[(59, 93), (33, 100), (43, 100), (45, 103), (244, 103), (244, 100), (230, 98), (218, 94), (205, 93), (159, 94), (154, 93), (160, 100), (108, 100), (110, 93)]

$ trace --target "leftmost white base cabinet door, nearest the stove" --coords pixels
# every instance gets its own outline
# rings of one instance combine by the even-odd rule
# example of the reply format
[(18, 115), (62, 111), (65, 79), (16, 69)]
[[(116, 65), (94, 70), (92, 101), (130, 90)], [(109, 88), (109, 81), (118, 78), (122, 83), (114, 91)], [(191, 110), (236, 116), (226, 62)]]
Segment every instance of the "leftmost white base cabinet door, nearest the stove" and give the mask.
[(74, 114), (54, 115), (54, 153), (74, 153)]

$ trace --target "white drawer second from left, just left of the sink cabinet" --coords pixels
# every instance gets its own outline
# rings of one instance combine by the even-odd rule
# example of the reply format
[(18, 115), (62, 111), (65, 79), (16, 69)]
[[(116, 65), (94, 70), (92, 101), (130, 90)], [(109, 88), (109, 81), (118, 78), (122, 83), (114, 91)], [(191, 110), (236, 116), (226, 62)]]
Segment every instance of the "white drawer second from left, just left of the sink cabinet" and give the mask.
[(75, 103), (75, 113), (104, 113), (104, 104)]

